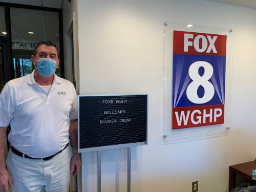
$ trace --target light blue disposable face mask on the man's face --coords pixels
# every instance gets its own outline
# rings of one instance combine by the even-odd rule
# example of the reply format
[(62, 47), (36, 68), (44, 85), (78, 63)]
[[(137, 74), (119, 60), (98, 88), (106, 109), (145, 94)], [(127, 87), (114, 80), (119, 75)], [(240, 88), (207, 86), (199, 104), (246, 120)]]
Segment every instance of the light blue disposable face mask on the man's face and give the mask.
[(56, 70), (56, 61), (50, 58), (38, 59), (36, 69), (40, 75), (44, 77), (50, 77)]

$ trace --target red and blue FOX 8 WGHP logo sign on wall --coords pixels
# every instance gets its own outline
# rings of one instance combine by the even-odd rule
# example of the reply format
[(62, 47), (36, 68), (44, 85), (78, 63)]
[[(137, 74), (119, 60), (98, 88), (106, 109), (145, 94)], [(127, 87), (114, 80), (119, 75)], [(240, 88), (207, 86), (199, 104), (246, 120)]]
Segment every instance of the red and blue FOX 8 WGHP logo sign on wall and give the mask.
[(173, 129), (224, 123), (226, 40), (174, 31)]

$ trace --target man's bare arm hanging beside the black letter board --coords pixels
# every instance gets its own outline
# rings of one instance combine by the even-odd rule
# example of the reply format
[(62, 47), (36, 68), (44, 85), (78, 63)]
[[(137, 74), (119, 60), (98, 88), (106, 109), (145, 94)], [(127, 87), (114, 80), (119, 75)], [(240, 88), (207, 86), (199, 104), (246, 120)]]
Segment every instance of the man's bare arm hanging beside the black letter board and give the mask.
[(81, 157), (78, 153), (77, 147), (77, 119), (70, 121), (69, 126), (69, 139), (72, 146), (73, 157), (71, 159), (70, 172), (75, 176), (78, 174), (81, 168)]

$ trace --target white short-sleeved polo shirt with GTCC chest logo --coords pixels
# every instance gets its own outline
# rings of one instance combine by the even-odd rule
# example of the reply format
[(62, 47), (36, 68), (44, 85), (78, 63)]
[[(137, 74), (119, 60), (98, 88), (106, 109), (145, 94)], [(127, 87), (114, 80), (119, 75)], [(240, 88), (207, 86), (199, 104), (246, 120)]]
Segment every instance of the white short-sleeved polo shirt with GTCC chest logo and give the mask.
[(6, 83), (0, 94), (0, 126), (11, 124), (9, 142), (30, 157), (48, 157), (64, 148), (70, 120), (76, 118), (75, 88), (55, 74), (48, 93), (35, 82), (33, 71)]

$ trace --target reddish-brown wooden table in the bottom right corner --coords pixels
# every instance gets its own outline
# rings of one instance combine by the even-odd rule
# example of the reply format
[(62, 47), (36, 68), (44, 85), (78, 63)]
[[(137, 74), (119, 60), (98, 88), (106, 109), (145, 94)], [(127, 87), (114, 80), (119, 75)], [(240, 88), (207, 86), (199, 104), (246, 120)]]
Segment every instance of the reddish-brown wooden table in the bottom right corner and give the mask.
[(256, 161), (229, 166), (229, 191), (236, 187), (237, 174), (255, 183), (256, 180), (252, 179), (252, 169), (256, 169)]

